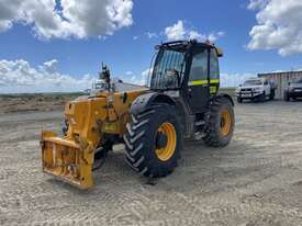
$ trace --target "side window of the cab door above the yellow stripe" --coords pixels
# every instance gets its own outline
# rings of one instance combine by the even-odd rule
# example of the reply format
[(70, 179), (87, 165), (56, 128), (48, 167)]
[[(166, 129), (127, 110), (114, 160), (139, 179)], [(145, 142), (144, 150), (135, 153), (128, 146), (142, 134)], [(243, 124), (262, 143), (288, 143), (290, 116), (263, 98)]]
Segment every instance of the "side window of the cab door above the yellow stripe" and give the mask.
[(189, 81), (200, 80), (208, 80), (208, 52), (205, 49), (193, 56), (189, 76)]

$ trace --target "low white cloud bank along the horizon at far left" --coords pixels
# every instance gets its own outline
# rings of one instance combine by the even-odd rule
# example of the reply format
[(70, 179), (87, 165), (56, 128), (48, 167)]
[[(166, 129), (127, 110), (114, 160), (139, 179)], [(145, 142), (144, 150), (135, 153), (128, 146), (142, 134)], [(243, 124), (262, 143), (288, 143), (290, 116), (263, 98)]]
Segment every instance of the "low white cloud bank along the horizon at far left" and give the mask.
[(0, 60), (0, 92), (81, 91), (91, 87), (89, 75), (79, 79), (59, 74), (56, 59), (32, 67), (23, 59)]

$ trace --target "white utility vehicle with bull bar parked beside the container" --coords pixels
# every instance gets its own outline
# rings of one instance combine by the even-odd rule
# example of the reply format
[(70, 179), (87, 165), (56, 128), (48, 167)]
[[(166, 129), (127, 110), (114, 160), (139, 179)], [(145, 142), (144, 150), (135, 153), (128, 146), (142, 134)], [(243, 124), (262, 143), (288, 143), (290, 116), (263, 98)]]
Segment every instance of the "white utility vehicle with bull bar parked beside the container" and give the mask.
[(265, 102), (275, 99), (276, 86), (266, 78), (250, 78), (236, 89), (238, 103), (244, 100), (258, 100)]

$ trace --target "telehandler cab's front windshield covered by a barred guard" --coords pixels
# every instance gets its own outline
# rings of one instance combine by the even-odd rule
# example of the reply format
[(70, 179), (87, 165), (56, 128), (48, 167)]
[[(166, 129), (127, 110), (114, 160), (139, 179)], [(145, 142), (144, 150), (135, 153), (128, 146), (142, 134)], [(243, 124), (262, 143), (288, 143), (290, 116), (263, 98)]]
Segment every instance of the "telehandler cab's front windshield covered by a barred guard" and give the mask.
[(155, 60), (150, 88), (177, 89), (184, 71), (186, 53), (175, 49), (160, 49)]

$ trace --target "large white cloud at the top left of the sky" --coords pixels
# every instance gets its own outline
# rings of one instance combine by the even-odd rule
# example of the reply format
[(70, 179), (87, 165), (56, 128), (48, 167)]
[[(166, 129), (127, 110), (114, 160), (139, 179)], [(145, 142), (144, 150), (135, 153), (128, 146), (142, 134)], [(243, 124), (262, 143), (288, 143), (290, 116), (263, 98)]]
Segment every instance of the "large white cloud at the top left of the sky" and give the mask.
[[(30, 25), (41, 38), (112, 35), (133, 24), (132, 0), (1, 0), (0, 31)], [(61, 10), (58, 10), (61, 9)]]

